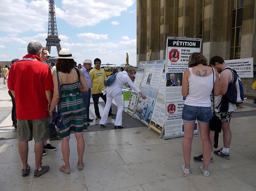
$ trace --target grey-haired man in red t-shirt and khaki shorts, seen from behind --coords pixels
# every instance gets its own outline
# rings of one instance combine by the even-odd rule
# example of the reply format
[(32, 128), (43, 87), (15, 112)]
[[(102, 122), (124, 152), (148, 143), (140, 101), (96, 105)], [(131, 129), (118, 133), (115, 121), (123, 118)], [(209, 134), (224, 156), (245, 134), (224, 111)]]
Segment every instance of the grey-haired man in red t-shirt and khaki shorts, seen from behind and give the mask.
[(35, 141), (35, 171), (38, 177), (49, 166), (41, 166), (44, 141), (49, 138), (47, 127), (48, 104), (51, 103), (53, 89), (52, 73), (48, 65), (42, 64), (42, 45), (32, 41), (28, 44), (28, 54), (15, 62), (9, 72), (8, 88), (16, 103), (17, 139), (19, 155), (22, 159), (22, 176), (28, 176), (28, 141)]

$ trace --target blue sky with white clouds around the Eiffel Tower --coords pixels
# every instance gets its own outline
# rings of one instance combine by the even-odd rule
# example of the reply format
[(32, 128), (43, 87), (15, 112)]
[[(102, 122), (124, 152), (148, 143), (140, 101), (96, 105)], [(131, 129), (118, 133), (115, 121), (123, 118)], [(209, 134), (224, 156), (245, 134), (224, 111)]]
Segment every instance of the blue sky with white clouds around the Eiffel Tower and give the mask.
[[(100, 58), (102, 64), (136, 65), (135, 0), (55, 0), (60, 45), (71, 50), (77, 63)], [(0, 61), (21, 59), (27, 44), (46, 45), (48, 33), (46, 0), (0, 1)], [(52, 56), (57, 56), (55, 47)]]

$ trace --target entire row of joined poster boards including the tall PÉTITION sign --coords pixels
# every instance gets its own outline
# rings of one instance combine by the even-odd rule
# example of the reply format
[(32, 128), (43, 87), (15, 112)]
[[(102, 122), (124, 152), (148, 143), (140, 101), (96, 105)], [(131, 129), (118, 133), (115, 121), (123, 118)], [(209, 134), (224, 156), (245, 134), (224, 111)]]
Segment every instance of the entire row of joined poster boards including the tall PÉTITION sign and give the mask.
[[(184, 136), (181, 118), (185, 100), (181, 93), (183, 72), (188, 67), (189, 56), (200, 52), (201, 39), (167, 37), (166, 43), (165, 60), (140, 62), (144, 70), (138, 68), (134, 83), (146, 99), (132, 91), (127, 111), (158, 132), (160, 137), (164, 133), (165, 139)], [(196, 123), (194, 134), (197, 133)]]

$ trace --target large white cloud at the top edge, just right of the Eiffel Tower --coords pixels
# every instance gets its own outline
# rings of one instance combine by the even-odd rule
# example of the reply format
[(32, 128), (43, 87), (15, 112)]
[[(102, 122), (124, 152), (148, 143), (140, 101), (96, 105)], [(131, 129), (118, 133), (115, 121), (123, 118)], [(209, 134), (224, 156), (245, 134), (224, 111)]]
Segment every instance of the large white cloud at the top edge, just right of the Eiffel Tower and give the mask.
[(74, 27), (94, 26), (101, 20), (120, 16), (135, 0), (65, 0), (62, 8), (56, 8), (56, 17)]

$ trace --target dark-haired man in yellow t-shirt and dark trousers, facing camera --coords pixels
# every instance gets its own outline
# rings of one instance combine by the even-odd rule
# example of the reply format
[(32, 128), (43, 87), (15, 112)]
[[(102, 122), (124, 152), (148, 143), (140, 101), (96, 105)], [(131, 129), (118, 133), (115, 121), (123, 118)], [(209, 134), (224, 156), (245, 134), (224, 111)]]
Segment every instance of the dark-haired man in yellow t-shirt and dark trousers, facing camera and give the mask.
[[(103, 95), (102, 90), (105, 89), (104, 81), (106, 80), (105, 70), (100, 67), (101, 60), (99, 58), (94, 59), (95, 67), (91, 69), (90, 76), (92, 79), (92, 98), (94, 103), (95, 115), (97, 118), (101, 118), (99, 113), (99, 98), (106, 103), (106, 94)], [(112, 108), (110, 107), (109, 116), (115, 116), (112, 113)]]

